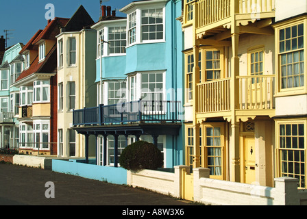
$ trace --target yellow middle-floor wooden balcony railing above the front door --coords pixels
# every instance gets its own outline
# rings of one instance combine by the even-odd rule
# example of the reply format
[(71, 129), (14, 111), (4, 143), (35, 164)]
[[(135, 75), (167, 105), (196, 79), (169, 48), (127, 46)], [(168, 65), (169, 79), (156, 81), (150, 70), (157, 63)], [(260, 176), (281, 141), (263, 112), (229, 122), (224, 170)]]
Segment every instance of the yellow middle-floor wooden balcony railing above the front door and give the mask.
[[(200, 117), (228, 116), (236, 110), (238, 116), (274, 116), (275, 75), (238, 76), (238, 106), (230, 105), (230, 78), (197, 84), (196, 113)], [(202, 114), (202, 115), (200, 115)]]

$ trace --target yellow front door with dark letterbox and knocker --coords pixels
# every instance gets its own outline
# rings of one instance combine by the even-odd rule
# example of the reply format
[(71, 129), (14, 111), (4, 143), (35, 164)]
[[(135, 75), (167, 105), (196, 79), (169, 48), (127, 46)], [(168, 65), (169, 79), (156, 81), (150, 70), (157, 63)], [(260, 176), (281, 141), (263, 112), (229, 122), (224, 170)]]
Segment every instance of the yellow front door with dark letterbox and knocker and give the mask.
[(256, 181), (255, 172), (255, 138), (245, 137), (245, 157), (244, 157), (244, 171), (245, 183), (254, 183)]

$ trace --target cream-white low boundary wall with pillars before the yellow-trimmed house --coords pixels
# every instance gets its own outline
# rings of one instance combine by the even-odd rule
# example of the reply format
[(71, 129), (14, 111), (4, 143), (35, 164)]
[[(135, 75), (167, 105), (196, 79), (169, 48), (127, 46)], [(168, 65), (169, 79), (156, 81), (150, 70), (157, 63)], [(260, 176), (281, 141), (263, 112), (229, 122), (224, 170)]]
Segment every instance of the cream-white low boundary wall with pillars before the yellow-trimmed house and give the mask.
[[(182, 169), (127, 171), (127, 185), (182, 198)], [(307, 205), (307, 190), (298, 190), (298, 179), (275, 178), (275, 187), (236, 183), (209, 178), (208, 168), (194, 168), (194, 201), (212, 205)]]

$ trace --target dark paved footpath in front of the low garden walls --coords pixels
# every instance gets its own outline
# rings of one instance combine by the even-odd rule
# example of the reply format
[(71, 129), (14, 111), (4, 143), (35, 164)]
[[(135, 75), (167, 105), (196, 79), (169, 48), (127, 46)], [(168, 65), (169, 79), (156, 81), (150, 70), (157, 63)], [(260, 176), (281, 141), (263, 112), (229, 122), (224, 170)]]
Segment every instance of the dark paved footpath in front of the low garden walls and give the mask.
[[(45, 192), (54, 183), (54, 198)], [(47, 192), (47, 194), (52, 194)], [(193, 205), (147, 190), (51, 170), (0, 164), (0, 205)]]

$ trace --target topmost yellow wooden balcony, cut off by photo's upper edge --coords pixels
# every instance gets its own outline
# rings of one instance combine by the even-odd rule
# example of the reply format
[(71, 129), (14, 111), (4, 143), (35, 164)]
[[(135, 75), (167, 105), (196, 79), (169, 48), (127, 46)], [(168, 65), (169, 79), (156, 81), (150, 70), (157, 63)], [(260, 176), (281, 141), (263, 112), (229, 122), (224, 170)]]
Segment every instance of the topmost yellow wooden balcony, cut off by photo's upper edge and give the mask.
[(234, 21), (237, 26), (245, 26), (250, 22), (273, 17), (275, 0), (184, 1), (184, 25), (193, 24), (198, 38), (230, 29)]

